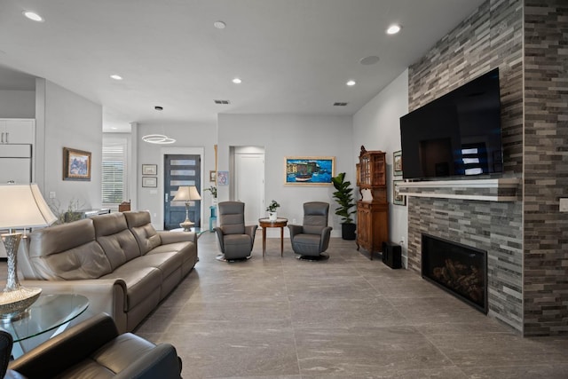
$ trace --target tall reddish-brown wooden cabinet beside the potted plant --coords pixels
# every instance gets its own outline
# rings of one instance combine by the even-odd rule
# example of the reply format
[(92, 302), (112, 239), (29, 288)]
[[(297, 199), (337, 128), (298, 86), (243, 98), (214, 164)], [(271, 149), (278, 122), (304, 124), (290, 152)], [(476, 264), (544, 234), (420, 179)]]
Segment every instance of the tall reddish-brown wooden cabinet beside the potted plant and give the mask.
[(357, 201), (357, 249), (373, 253), (389, 241), (389, 203), (387, 201), (386, 160), (382, 151), (361, 146), (357, 164), (357, 185), (362, 200)]

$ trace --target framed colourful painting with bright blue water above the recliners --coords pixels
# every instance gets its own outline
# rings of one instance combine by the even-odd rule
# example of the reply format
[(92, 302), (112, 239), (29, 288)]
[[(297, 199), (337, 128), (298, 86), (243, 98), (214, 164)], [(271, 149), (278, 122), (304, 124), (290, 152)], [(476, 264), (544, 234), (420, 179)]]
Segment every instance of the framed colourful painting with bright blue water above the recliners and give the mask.
[(284, 157), (286, 186), (332, 186), (335, 176), (335, 156)]

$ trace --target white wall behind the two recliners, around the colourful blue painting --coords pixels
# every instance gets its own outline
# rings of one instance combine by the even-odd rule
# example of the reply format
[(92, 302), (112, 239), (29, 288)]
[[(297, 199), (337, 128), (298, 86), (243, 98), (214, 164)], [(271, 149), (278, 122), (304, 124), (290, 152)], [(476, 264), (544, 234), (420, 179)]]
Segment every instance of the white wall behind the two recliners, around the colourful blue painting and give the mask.
[[(305, 201), (327, 201), (329, 225), (334, 228), (332, 235), (339, 237), (341, 225), (339, 217), (335, 216), (333, 186), (285, 186), (284, 159), (286, 156), (335, 156), (335, 174), (344, 171), (347, 179), (354, 183), (351, 121), (351, 116), (219, 114), (217, 170), (230, 170), (231, 146), (264, 147), (264, 203), (271, 199), (279, 201), (279, 217), (288, 218), (289, 223), (296, 218), (301, 223)], [(219, 201), (231, 200), (229, 186), (218, 187), (218, 198)], [(280, 236), (280, 231), (271, 228), (268, 236)]]

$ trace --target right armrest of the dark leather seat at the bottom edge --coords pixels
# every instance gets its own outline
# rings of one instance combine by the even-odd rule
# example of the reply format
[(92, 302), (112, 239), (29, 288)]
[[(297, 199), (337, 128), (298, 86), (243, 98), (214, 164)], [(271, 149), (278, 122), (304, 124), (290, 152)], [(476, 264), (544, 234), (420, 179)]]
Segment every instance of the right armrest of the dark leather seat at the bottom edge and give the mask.
[(161, 343), (122, 370), (116, 379), (181, 378), (181, 359), (170, 343)]

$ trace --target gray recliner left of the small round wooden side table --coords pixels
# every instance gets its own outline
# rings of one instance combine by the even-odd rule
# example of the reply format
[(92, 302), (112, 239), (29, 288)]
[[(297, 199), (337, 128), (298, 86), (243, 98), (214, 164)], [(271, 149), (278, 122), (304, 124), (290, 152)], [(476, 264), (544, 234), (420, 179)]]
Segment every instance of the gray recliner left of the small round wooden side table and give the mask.
[(250, 257), (258, 225), (245, 225), (245, 203), (221, 201), (218, 208), (219, 225), (215, 233), (223, 256), (217, 259), (233, 261)]

